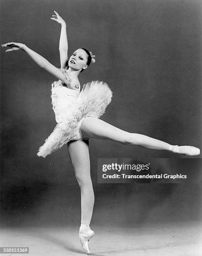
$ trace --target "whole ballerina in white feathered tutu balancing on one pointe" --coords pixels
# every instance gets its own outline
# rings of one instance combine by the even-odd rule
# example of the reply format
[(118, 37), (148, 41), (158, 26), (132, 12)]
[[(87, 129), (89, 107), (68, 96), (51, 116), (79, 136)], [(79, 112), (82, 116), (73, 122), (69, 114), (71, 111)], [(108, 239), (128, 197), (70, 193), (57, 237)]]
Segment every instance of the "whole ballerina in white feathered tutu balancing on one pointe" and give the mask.
[(25, 44), (12, 42), (3, 44), (2, 47), (9, 46), (11, 49), (6, 50), (7, 52), (22, 49), (40, 67), (60, 79), (52, 84), (52, 105), (57, 125), (45, 144), (40, 147), (37, 155), (45, 157), (67, 143), (72, 166), (81, 189), (79, 237), (84, 251), (89, 254), (88, 241), (94, 235), (89, 226), (94, 205), (94, 192), (90, 177), (89, 138), (110, 139), (127, 145), (167, 150), (189, 156), (200, 154), (200, 149), (192, 146), (173, 146), (142, 134), (128, 133), (98, 119), (111, 101), (110, 89), (102, 82), (92, 82), (85, 85), (79, 93), (78, 80), (80, 72), (87, 69), (91, 62), (95, 62), (95, 56), (86, 49), (77, 49), (68, 61), (65, 21), (57, 12), (52, 15), (51, 19), (61, 24), (60, 69), (54, 67)]

